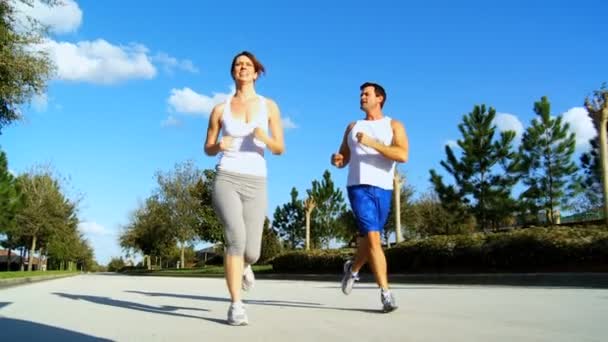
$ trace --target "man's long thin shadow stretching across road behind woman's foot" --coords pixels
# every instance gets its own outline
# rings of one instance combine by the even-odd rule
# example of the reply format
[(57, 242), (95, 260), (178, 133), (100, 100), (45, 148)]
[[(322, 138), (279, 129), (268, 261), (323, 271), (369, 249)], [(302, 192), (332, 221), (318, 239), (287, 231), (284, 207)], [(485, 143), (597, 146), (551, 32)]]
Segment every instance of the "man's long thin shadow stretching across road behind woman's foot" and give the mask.
[[(210, 297), (210, 296), (199, 296), (199, 295), (188, 295), (188, 294), (177, 294), (177, 293), (162, 293), (162, 292), (144, 292), (144, 291), (126, 291), (127, 293), (137, 293), (151, 297), (171, 297), (171, 298), (182, 298), (182, 299), (194, 299), (212, 302), (229, 302), (228, 298), (223, 297)], [(325, 309), (325, 310), (340, 310), (340, 311), (357, 311), (357, 312), (368, 312), (368, 313), (382, 313), (382, 310), (370, 310), (370, 309), (355, 309), (355, 308), (338, 308), (324, 306), (321, 303), (309, 303), (299, 301), (288, 301), (288, 300), (255, 300), (247, 299), (243, 300), (245, 304), (250, 305), (266, 305), (266, 306), (278, 306), (278, 307), (290, 307), (290, 308), (302, 308), (302, 309)]]

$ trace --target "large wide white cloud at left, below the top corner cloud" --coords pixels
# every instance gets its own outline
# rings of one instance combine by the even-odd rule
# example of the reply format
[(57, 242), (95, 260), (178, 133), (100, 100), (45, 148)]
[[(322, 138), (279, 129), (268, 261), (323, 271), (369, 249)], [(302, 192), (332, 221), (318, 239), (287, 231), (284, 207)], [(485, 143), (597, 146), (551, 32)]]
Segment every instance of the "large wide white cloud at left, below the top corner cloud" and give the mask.
[(76, 44), (49, 40), (42, 48), (57, 65), (60, 80), (113, 84), (156, 75), (148, 49), (140, 44), (116, 46), (103, 39)]

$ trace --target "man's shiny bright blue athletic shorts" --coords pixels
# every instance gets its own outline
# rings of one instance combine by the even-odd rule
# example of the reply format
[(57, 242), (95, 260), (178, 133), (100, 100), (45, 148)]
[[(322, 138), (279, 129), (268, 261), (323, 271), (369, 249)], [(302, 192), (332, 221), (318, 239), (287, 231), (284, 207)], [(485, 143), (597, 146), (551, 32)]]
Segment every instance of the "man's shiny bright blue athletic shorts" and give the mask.
[(366, 184), (351, 185), (346, 190), (359, 235), (382, 232), (391, 208), (393, 191)]

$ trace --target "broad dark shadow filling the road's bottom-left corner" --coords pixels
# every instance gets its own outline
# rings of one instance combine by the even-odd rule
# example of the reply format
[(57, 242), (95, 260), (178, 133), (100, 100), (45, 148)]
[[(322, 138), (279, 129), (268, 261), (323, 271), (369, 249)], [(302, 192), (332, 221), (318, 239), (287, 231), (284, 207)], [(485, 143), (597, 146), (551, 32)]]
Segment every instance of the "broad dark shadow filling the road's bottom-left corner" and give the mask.
[(105, 338), (85, 335), (50, 325), (0, 317), (0, 331), (3, 341), (45, 341), (45, 342), (99, 342), (111, 341)]

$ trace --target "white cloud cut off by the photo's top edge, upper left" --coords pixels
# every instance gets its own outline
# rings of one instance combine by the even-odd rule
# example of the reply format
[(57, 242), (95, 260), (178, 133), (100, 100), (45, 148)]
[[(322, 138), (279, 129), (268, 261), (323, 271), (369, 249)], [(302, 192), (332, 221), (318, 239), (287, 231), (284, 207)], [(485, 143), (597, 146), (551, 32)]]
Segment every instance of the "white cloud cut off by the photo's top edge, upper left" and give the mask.
[(18, 13), (38, 20), (54, 33), (74, 32), (82, 23), (82, 10), (74, 0), (61, 0), (50, 7), (39, 0), (34, 0), (32, 6), (17, 0), (13, 3)]

